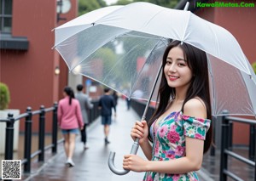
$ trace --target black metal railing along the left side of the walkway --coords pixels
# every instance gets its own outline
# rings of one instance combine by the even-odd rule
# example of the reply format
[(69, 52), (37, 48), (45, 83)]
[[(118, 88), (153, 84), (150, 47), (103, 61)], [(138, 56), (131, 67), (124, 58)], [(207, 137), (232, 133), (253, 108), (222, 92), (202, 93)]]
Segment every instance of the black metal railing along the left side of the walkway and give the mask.
[[(100, 116), (100, 110), (97, 109), (98, 101), (92, 101), (94, 105), (93, 109), (89, 110), (90, 123), (95, 121)], [(4, 159), (13, 160), (14, 150), (14, 124), (20, 119), (25, 119), (25, 142), (24, 142), (24, 158), (21, 160), (24, 173), (31, 172), (31, 161), (35, 156), (38, 156), (38, 161), (44, 161), (44, 151), (51, 149), (52, 153), (57, 153), (57, 145), (64, 141), (64, 139), (57, 140), (58, 125), (57, 125), (57, 103), (49, 108), (44, 108), (41, 105), (40, 110), (32, 111), (31, 107), (27, 107), (26, 112), (14, 117), (9, 114), (6, 119), (0, 119), (0, 123), (6, 122), (6, 133), (5, 133), (5, 151)], [(51, 139), (52, 142), (49, 145), (44, 145), (45, 136), (45, 114), (52, 112), (52, 130)], [(32, 153), (32, 122), (33, 116), (38, 115), (38, 150)], [(49, 122), (47, 122), (49, 123)], [(1, 180), (2, 178), (0, 178)]]

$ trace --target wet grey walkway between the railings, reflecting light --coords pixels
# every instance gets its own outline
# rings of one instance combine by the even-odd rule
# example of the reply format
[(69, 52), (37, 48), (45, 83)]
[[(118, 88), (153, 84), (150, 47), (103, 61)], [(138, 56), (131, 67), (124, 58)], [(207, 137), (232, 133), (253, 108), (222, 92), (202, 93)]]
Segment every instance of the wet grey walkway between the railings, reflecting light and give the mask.
[[(117, 107), (117, 118), (110, 129), (110, 144), (104, 144), (103, 127), (100, 118), (92, 123), (88, 128), (88, 150), (83, 149), (83, 144), (77, 139), (73, 156), (75, 167), (66, 167), (66, 156), (63, 147), (58, 147), (58, 154), (49, 158), (32, 174), (24, 175), (23, 180), (84, 180), (84, 181), (140, 181), (143, 180), (144, 173), (130, 172), (124, 176), (115, 175), (108, 168), (109, 151), (115, 151), (115, 165), (122, 168), (122, 159), (125, 154), (130, 153), (133, 141), (130, 137), (131, 127), (136, 120), (140, 120), (133, 110), (126, 110), (125, 101), (119, 100)], [(137, 155), (143, 156), (142, 150), (138, 150)], [(144, 157), (144, 156), (143, 156)], [(211, 181), (212, 178), (200, 171), (201, 181)]]

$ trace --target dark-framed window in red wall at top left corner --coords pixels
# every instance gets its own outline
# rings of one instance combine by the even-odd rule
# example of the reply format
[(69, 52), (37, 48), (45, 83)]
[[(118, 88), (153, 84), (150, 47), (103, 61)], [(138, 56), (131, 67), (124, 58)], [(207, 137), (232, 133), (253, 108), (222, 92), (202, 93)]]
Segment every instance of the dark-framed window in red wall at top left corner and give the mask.
[(10, 34), (12, 31), (12, 0), (0, 0), (0, 32)]

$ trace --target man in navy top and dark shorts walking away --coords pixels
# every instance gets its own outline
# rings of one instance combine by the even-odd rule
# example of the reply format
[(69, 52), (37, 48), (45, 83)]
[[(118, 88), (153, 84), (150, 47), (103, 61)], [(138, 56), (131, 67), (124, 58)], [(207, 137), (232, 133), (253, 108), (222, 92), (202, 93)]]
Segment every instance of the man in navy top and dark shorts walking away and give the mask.
[(104, 95), (102, 95), (100, 98), (98, 107), (102, 112), (102, 125), (104, 126), (105, 144), (109, 144), (110, 142), (108, 141), (108, 134), (110, 128), (109, 126), (112, 122), (112, 109), (114, 110), (114, 116), (116, 116), (116, 108), (109, 88), (104, 88)]

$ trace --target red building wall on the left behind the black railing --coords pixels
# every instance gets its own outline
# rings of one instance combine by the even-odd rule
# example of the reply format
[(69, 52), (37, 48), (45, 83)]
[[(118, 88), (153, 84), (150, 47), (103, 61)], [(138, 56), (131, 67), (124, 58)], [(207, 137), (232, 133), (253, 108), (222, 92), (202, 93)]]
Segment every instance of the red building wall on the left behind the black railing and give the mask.
[[(77, 1), (72, 0), (72, 4), (72, 10), (63, 16), (67, 20), (77, 15)], [(59, 100), (59, 87), (62, 90), (62, 85), (67, 84), (67, 69), (61, 66), (60, 55), (51, 49), (55, 42), (52, 29), (57, 26), (56, 1), (15, 0), (12, 20), (12, 36), (27, 37), (29, 48), (27, 51), (1, 49), (0, 82), (9, 86), (9, 109), (23, 113), (27, 106), (32, 110), (38, 110), (40, 105), (50, 107)], [(59, 76), (55, 75), (56, 66), (63, 68)], [(46, 130), (50, 127), (51, 124), (46, 124)], [(20, 131), (23, 130), (24, 124), (20, 123)], [(33, 130), (38, 130), (37, 121)]]

